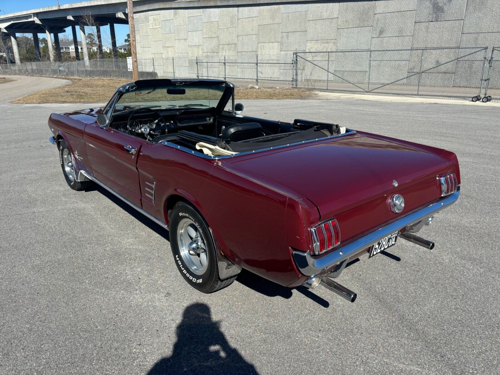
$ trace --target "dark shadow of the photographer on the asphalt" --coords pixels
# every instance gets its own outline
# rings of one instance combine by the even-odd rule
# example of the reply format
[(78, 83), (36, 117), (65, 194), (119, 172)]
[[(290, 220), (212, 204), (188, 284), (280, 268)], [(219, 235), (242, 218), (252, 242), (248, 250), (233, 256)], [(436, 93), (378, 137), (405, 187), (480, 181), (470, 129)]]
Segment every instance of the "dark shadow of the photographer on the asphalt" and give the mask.
[(184, 309), (176, 334), (171, 355), (158, 360), (148, 375), (258, 374), (253, 364), (229, 345), (219, 322), (212, 320), (210, 308), (204, 303), (193, 303)]

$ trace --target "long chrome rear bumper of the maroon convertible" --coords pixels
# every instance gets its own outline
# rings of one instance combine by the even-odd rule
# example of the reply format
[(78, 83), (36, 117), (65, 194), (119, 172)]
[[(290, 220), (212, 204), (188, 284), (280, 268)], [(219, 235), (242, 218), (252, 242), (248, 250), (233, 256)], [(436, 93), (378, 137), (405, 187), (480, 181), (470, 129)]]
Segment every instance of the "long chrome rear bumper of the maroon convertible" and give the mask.
[(347, 243), (346, 245), (333, 249), (331, 252), (327, 253), (324, 256), (316, 258), (312, 257), (309, 251), (293, 251), (293, 260), (295, 261), (297, 268), (305, 276), (314, 276), (320, 274), (327, 269), (337, 266), (352, 255), (365, 250), (373, 243), (378, 242), (383, 237), (399, 231), (404, 227), (414, 225), (424, 219), (427, 219), (434, 213), (440, 211), (442, 208), (454, 203), (456, 199), (458, 199), (458, 195), (459, 191), (455, 191), (451, 195), (448, 195), (445, 198), (432, 203), (427, 207), (421, 208), (418, 211), (403, 216), (388, 225), (382, 226), (381, 228), (378, 228), (361, 238)]

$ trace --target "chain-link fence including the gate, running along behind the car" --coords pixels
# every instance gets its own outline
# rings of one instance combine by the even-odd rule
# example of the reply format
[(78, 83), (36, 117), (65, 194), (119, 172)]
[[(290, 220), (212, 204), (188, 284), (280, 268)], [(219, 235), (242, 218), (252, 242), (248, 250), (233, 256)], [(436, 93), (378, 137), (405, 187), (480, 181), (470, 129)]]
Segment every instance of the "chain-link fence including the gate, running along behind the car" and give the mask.
[[(364, 94), (498, 100), (500, 47), (212, 54), (139, 58), (139, 78), (218, 78), (237, 86), (298, 87)], [(132, 79), (126, 58), (2, 64), (0, 74)], [(486, 97), (486, 99), (484, 99)]]

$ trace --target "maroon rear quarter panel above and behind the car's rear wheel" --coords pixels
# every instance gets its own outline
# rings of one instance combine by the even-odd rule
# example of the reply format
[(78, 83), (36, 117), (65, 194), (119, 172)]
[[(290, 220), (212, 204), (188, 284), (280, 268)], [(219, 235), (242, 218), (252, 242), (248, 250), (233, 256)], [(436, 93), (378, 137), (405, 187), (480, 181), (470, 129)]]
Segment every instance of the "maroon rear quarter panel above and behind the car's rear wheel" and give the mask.
[(200, 211), (233, 262), (282, 285), (298, 279), (286, 228), (287, 201), (297, 198), (294, 192), (223, 160), (161, 144), (143, 146), (137, 167), (141, 181), (155, 176), (155, 204), (143, 201), (149, 213), (167, 221), (165, 202), (180, 195)]

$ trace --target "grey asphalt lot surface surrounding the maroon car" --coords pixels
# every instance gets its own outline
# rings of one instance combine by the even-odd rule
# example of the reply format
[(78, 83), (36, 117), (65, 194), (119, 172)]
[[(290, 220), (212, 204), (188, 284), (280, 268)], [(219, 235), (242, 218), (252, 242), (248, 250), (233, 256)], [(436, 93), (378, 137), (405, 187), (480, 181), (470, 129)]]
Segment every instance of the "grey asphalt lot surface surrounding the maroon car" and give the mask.
[(498, 373), (500, 108), (243, 101), (243, 114), (458, 155), (460, 198), (420, 232), (435, 248), (399, 240), (352, 264), (338, 279), (349, 303), (247, 272), (196, 291), (166, 231), (102, 189), (67, 187), (46, 120), (89, 105), (0, 98), (0, 373)]

